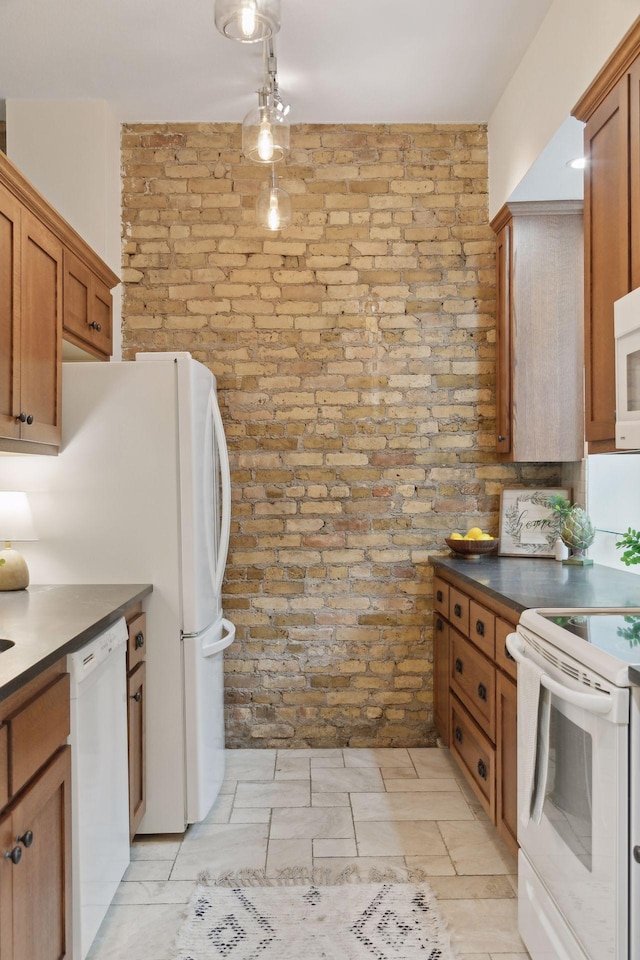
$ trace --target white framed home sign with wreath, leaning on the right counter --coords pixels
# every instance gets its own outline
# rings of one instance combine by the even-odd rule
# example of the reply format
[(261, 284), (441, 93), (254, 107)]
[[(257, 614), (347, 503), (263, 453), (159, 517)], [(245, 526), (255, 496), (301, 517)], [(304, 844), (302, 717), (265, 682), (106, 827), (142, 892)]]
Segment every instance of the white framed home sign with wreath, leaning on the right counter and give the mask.
[(550, 497), (571, 500), (564, 487), (544, 490), (503, 490), (500, 497), (498, 553), (503, 557), (553, 557), (562, 519)]

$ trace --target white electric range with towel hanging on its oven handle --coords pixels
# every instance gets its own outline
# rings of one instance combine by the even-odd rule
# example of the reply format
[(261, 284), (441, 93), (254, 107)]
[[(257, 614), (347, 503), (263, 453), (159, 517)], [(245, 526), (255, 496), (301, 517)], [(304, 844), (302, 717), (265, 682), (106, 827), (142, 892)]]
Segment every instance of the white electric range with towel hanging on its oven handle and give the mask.
[(507, 647), (520, 934), (533, 960), (640, 960), (640, 607), (527, 610)]

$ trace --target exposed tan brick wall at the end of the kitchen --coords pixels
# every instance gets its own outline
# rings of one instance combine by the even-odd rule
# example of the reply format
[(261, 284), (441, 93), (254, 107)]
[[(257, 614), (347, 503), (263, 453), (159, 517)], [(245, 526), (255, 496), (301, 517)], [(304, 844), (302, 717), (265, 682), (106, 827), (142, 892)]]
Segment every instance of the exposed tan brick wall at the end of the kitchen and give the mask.
[(433, 742), (429, 554), (497, 532), (486, 130), (298, 126), (292, 225), (228, 124), (123, 130), (124, 350), (216, 374), (230, 746)]

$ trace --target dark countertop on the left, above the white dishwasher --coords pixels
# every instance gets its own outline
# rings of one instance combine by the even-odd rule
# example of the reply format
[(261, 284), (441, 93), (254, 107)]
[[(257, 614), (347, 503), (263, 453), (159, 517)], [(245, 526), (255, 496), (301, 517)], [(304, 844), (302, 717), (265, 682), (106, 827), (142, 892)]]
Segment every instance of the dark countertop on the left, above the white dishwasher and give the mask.
[(151, 593), (149, 583), (30, 586), (0, 592), (0, 700), (77, 650)]

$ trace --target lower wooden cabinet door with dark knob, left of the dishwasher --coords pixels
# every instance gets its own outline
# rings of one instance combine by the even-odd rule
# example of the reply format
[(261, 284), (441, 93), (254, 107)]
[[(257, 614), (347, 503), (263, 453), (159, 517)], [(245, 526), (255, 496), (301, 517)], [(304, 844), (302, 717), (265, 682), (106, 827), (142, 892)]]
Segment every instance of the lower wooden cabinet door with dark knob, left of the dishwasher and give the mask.
[[(23, 838), (18, 841), (18, 838)], [(1, 861), (2, 956), (63, 960), (71, 956), (71, 763), (65, 747), (11, 813), (9, 846), (18, 863)], [(4, 852), (4, 851), (3, 851)], [(9, 926), (10, 935), (4, 929)], [(6, 938), (6, 939), (5, 939)], [(10, 946), (9, 946), (10, 938)]]

